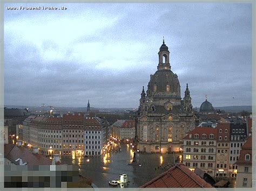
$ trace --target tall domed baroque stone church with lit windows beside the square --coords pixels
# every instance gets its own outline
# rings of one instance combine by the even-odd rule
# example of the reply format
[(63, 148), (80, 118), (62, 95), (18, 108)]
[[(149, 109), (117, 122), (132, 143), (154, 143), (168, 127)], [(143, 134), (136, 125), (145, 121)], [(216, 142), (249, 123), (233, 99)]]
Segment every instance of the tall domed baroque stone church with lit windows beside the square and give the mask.
[(181, 99), (178, 76), (171, 70), (170, 52), (164, 40), (158, 56), (157, 71), (150, 75), (146, 93), (143, 87), (139, 100), (137, 147), (148, 153), (177, 152), (183, 147), (186, 133), (195, 128), (197, 117), (192, 111), (188, 85)]

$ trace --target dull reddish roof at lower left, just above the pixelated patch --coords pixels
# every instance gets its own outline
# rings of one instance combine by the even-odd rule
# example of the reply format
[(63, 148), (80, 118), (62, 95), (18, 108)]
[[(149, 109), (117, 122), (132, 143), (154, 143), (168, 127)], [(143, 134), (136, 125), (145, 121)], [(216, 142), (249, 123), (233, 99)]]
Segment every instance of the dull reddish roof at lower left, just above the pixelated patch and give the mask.
[[(27, 165), (51, 165), (52, 160), (44, 157), (41, 154), (33, 153), (32, 151), (24, 148), (23, 146), (16, 146), (14, 144), (5, 144), (4, 145), (4, 158), (9, 159), (10, 161), (18, 164), (15, 160), (18, 158), (22, 159), (22, 162), (28, 162)], [(57, 162), (57, 165), (61, 165), (62, 163)]]

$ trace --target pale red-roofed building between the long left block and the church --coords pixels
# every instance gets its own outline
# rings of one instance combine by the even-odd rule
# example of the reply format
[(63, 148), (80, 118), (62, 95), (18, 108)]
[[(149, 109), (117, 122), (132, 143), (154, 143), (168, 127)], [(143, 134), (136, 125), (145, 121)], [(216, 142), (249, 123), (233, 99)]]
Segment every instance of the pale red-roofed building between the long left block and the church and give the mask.
[(119, 139), (134, 139), (135, 121), (134, 120), (117, 120), (112, 125), (112, 135)]

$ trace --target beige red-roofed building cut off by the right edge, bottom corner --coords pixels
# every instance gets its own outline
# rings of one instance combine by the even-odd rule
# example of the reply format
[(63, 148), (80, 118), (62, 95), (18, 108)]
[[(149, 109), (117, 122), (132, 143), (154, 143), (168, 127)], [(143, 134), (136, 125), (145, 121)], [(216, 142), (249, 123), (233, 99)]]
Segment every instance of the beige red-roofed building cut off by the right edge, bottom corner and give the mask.
[(252, 187), (252, 136), (248, 137), (235, 164), (237, 168), (237, 188)]

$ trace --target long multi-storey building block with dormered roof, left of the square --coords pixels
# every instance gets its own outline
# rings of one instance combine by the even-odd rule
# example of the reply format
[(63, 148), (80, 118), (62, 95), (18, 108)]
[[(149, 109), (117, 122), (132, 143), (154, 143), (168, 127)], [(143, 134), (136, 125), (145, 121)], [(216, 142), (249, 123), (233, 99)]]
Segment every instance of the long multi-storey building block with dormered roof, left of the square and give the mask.
[(18, 140), (29, 148), (38, 146), (41, 154), (98, 155), (109, 126), (104, 118), (78, 112), (63, 117), (29, 116), (17, 126), (17, 133)]

